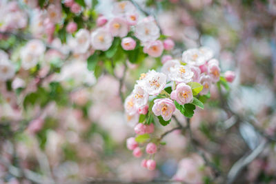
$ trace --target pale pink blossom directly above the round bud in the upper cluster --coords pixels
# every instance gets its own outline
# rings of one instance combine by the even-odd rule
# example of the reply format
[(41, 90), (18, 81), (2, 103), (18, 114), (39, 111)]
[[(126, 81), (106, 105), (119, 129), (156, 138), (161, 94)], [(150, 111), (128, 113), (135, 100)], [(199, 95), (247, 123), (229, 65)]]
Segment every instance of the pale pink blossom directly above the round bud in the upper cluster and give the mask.
[(108, 23), (108, 30), (113, 37), (126, 37), (128, 24), (121, 17), (115, 17)]

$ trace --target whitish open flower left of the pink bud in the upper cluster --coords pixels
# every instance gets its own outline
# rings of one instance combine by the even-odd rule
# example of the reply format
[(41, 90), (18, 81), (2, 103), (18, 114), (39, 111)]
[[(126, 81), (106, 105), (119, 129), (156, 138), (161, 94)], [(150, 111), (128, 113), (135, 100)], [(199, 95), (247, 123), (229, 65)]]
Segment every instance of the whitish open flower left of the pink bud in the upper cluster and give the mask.
[(108, 50), (112, 45), (112, 41), (112, 35), (104, 28), (98, 28), (91, 34), (91, 44), (95, 50)]

